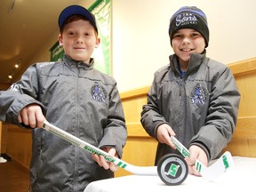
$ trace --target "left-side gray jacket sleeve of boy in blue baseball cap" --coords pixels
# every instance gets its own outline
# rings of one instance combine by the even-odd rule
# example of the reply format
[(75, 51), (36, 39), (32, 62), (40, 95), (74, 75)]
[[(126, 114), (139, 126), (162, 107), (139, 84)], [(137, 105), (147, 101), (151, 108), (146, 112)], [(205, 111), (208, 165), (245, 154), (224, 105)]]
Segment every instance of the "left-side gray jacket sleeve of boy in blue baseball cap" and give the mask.
[(0, 92), (0, 120), (20, 125), (18, 122), (20, 110), (32, 103), (40, 105), (44, 113), (46, 108), (37, 100), (37, 92), (38, 83), (35, 64), (26, 70), (20, 81), (12, 84), (7, 91)]

